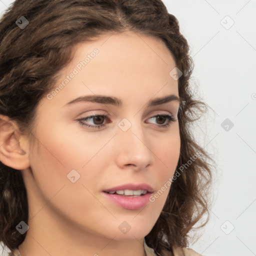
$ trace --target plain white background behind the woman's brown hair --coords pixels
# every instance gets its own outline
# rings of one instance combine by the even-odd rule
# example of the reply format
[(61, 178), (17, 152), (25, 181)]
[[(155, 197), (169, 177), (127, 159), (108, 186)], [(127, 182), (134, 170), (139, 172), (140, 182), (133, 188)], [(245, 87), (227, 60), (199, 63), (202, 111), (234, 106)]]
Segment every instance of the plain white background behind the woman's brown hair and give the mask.
[[(11, 2), (0, 0), (0, 15)], [(216, 162), (210, 220), (190, 247), (256, 255), (256, 0), (163, 2), (190, 45), (191, 85), (209, 109), (196, 137)]]

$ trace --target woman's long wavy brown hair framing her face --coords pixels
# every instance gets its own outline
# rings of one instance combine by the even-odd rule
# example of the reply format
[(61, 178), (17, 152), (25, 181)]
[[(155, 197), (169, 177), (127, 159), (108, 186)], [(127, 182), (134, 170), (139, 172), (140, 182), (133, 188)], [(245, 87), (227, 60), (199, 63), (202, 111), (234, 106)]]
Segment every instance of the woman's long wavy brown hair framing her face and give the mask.
[[(23, 28), (15, 23), (21, 15), (29, 22)], [(178, 79), (183, 101), (178, 112), (181, 148), (174, 173), (177, 178), (159, 218), (145, 236), (158, 255), (172, 255), (172, 246), (187, 246), (188, 232), (202, 216), (208, 216), (206, 198), (212, 174), (211, 158), (191, 132), (205, 104), (191, 92), (189, 46), (177, 19), (161, 0), (14, 1), (0, 20), (0, 114), (15, 120), (21, 133), (30, 136), (38, 102), (54, 88), (55, 75), (74, 56), (74, 45), (127, 30), (161, 39), (182, 72)], [(13, 251), (26, 235), (15, 226), (21, 220), (27, 223), (28, 202), (20, 170), (1, 162), (0, 197), (0, 241)], [(208, 217), (202, 225), (207, 221)]]

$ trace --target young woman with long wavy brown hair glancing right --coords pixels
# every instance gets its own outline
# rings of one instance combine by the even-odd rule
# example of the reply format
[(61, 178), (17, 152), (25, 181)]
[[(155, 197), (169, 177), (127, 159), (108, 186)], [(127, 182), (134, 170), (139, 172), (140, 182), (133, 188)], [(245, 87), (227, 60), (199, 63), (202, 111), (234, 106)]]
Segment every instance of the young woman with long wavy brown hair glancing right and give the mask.
[(211, 171), (188, 51), (160, 0), (13, 2), (0, 22), (9, 255), (199, 255), (186, 247)]

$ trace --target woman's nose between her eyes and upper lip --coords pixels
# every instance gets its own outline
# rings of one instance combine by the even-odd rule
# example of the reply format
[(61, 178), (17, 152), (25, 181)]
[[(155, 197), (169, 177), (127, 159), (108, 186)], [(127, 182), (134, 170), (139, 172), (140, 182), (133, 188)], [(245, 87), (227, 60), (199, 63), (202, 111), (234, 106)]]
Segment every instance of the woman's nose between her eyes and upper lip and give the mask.
[[(119, 168), (145, 169), (153, 161), (153, 148), (142, 124), (135, 121), (126, 130), (119, 129), (116, 136), (116, 164)], [(152, 140), (151, 140), (152, 142)]]

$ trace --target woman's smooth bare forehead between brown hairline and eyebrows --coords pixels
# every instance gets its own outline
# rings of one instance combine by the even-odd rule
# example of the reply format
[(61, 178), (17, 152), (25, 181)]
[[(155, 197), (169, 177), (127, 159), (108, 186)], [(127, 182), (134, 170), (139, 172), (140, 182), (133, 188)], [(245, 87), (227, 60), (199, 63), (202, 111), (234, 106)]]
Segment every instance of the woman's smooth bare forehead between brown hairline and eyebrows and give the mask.
[(177, 80), (169, 74), (175, 61), (159, 39), (135, 32), (110, 33), (80, 42), (74, 49), (56, 84), (62, 84), (58, 100), (67, 103), (86, 94), (134, 99), (141, 94), (145, 98), (178, 95)]

